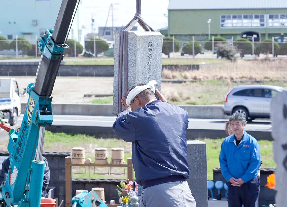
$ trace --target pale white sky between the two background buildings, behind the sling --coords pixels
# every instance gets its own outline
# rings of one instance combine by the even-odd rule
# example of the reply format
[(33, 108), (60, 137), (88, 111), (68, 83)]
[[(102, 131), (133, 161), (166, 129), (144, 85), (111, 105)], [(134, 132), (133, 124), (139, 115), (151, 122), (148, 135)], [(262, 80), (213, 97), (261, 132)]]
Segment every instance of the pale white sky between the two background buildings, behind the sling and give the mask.
[[(168, 19), (164, 14), (168, 14), (169, 0), (142, 0), (141, 17), (154, 30), (168, 26)], [(92, 15), (94, 18), (94, 32), (98, 32), (98, 27), (105, 26), (108, 16), (108, 10), (113, 3), (114, 27), (127, 25), (136, 13), (136, 0), (83, 0), (84, 24), (86, 33), (92, 32)], [(112, 12), (110, 11), (107, 26), (112, 26)], [(143, 30), (139, 24), (136, 24), (138, 30)]]

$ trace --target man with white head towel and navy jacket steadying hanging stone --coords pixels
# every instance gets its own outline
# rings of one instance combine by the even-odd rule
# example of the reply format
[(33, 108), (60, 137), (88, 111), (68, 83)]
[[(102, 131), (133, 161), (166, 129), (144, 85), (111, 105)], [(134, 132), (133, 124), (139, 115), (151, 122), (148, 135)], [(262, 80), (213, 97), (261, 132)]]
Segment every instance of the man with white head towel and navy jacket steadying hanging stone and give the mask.
[(128, 91), (127, 98), (122, 97), (126, 110), (117, 116), (113, 130), (121, 139), (132, 142), (136, 181), (144, 188), (141, 206), (195, 207), (186, 181), (188, 114), (168, 103), (155, 90), (155, 84), (155, 80), (138, 84)]

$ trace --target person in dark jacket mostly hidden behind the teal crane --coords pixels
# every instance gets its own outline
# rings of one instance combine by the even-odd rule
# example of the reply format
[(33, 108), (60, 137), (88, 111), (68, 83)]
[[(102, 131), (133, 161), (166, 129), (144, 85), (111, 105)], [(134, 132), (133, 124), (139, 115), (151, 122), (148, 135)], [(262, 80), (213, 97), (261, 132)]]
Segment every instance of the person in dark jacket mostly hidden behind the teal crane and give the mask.
[[(36, 155), (35, 155), (35, 157), (36, 157)], [(48, 166), (47, 159), (43, 156), (42, 156), (42, 161), (45, 162), (44, 180), (43, 180), (43, 187), (42, 187), (42, 197), (47, 198), (48, 193), (47, 193), (46, 189), (48, 188), (49, 181), (50, 181), (50, 169)], [(7, 158), (2, 163), (2, 170), (1, 170), (1, 174), (0, 174), (0, 184), (4, 181), (4, 174), (8, 174), (9, 166), (10, 166), (10, 160), (9, 160), (9, 158)]]

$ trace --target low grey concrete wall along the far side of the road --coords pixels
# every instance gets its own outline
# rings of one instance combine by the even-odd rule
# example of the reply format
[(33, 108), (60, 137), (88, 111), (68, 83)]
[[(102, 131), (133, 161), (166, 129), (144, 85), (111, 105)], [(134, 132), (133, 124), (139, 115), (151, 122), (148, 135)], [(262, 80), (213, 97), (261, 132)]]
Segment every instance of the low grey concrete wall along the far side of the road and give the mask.
[[(21, 111), (24, 113), (27, 103), (21, 103)], [(213, 105), (179, 105), (188, 112), (188, 118), (198, 119), (228, 119), (222, 112), (222, 106)], [(115, 116), (112, 114), (112, 104), (99, 103), (53, 103), (55, 115), (79, 115), (79, 116)]]

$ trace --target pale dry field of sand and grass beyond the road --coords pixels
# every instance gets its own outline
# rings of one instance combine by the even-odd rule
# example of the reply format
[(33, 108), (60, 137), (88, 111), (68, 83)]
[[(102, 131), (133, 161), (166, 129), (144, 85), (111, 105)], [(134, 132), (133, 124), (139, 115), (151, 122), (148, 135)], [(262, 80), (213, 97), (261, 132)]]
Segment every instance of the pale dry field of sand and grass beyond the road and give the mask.
[[(162, 83), (161, 91), (173, 104), (223, 104), (223, 97), (234, 86), (233, 80), (245, 80), (243, 84), (264, 84), (287, 87), (287, 60), (238, 60), (236, 63), (206, 65), (199, 71), (162, 71), (162, 79), (185, 79), (197, 82)], [(16, 77), (20, 90), (35, 77)], [(112, 94), (113, 77), (57, 77), (53, 89), (53, 102), (57, 103), (112, 103), (112, 98), (84, 98), (84, 94)], [(28, 96), (21, 97), (27, 101)]]

